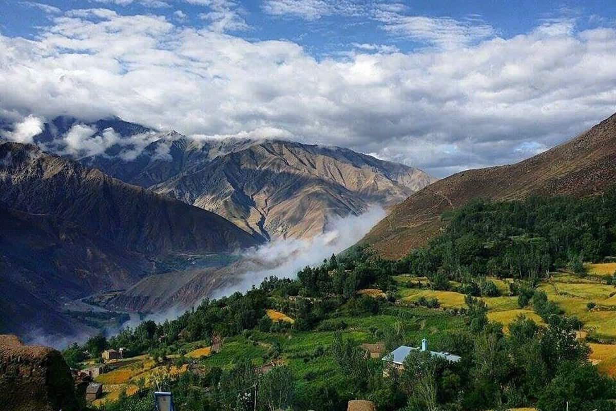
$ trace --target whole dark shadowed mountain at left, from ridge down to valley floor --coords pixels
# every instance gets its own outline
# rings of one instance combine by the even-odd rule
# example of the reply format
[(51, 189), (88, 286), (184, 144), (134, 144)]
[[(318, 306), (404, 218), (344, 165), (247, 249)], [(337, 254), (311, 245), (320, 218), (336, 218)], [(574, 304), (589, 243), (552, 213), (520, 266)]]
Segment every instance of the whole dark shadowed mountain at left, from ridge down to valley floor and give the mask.
[(209, 211), (0, 140), (2, 331), (83, 333), (62, 313), (68, 301), (131, 287), (163, 259), (260, 241)]

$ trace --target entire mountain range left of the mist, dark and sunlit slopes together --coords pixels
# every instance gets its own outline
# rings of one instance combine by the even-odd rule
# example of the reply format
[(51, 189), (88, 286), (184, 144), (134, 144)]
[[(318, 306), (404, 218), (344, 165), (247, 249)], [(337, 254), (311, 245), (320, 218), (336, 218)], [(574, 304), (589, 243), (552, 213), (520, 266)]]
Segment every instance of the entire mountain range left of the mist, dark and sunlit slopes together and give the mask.
[(110, 290), (126, 290), (118, 309), (190, 306), (235, 274), (236, 251), (321, 234), (435, 180), (347, 149), (118, 118), (56, 118), (33, 141), (0, 140), (0, 282), (15, 290), (0, 328), (21, 335), (87, 330), (65, 306)]

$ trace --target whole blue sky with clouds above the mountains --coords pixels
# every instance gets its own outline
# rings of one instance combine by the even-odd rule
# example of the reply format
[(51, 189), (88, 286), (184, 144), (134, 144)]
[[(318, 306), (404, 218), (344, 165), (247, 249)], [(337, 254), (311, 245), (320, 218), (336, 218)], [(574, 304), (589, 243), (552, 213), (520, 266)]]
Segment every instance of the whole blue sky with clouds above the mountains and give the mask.
[(116, 115), (444, 177), (614, 112), (612, 0), (0, 0), (2, 136), (23, 142), (58, 115)]

